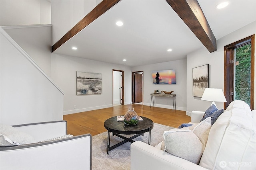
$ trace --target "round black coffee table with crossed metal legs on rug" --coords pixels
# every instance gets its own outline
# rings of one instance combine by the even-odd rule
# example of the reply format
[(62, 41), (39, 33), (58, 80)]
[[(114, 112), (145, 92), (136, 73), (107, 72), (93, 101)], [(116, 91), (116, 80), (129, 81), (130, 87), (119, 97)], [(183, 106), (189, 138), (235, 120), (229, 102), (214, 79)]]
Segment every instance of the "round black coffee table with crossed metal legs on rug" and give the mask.
[[(117, 121), (116, 116), (111, 117), (104, 122), (104, 127), (108, 130), (108, 148), (107, 148), (108, 154), (109, 154), (110, 150), (115, 149), (116, 147), (119, 147), (120, 145), (122, 145), (126, 142), (130, 142), (130, 143), (135, 142), (132, 139), (144, 134), (145, 132), (148, 132), (148, 145), (150, 145), (151, 129), (153, 129), (154, 124), (151, 119), (148, 119), (148, 118), (142, 117), (142, 116), (141, 116), (141, 118), (143, 119), (143, 121), (139, 121), (137, 125), (133, 125), (133, 126), (126, 125), (126, 124), (124, 124), (123, 121)], [(111, 133), (112, 133), (112, 135), (116, 135), (116, 136), (124, 139), (124, 141), (110, 147), (110, 134)], [(120, 134), (134, 135), (134, 136), (127, 138)]]

